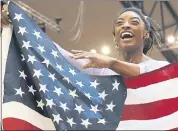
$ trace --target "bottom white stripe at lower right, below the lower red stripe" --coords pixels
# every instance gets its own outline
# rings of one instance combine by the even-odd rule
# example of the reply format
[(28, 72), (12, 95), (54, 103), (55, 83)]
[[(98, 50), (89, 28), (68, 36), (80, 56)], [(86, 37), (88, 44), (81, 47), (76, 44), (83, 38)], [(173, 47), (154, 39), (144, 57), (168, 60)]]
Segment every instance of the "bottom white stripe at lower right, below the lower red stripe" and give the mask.
[(121, 121), (117, 130), (170, 130), (177, 127), (178, 111), (171, 115), (153, 120)]

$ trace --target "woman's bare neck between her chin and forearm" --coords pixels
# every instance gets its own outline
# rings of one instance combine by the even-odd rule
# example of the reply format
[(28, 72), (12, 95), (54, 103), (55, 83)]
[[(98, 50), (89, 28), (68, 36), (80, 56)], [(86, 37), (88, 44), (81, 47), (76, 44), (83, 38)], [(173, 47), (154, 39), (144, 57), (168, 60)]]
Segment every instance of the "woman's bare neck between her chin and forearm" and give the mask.
[(134, 52), (119, 51), (118, 59), (125, 62), (138, 64), (143, 61), (143, 53), (142, 50), (137, 50)]

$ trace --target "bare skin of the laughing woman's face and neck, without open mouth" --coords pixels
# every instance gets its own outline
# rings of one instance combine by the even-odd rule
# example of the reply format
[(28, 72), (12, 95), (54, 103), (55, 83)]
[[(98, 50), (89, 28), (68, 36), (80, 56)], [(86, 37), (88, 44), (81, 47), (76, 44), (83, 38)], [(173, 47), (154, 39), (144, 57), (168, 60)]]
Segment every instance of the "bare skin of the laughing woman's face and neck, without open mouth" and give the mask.
[[(132, 39), (123, 40), (122, 32), (129, 31), (134, 35)], [(143, 55), (144, 38), (148, 37), (144, 22), (141, 17), (132, 11), (120, 15), (115, 22), (114, 41), (119, 46), (119, 58), (125, 62), (140, 63), (145, 58)]]

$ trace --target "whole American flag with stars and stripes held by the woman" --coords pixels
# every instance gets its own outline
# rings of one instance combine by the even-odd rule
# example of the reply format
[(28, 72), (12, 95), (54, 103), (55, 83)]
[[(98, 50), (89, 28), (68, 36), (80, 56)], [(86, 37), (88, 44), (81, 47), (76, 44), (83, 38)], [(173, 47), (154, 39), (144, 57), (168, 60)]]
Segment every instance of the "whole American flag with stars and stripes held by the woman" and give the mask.
[(178, 128), (178, 63), (130, 79), (86, 75), (11, 2), (9, 14), (14, 30), (4, 76), (4, 130)]

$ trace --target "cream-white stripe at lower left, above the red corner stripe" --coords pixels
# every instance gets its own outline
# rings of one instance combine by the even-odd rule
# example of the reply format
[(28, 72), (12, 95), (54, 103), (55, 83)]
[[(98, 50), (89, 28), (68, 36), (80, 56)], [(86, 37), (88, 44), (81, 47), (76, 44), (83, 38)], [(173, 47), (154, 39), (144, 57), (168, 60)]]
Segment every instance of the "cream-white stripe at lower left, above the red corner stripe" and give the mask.
[(27, 121), (42, 130), (55, 130), (51, 119), (19, 102), (8, 102), (2, 105), (2, 119), (10, 117)]

